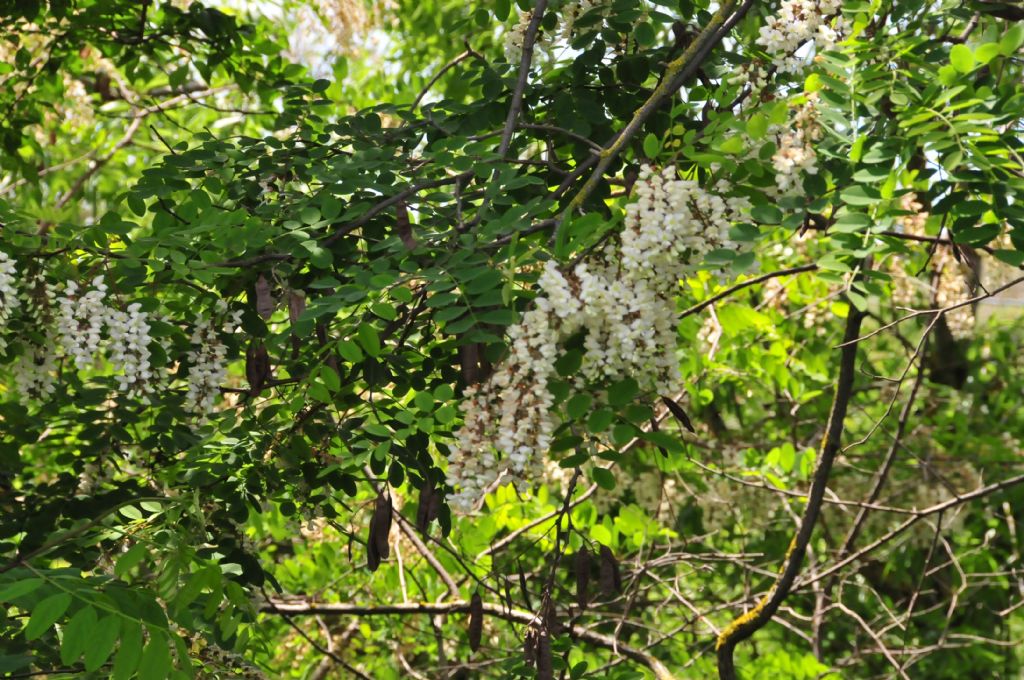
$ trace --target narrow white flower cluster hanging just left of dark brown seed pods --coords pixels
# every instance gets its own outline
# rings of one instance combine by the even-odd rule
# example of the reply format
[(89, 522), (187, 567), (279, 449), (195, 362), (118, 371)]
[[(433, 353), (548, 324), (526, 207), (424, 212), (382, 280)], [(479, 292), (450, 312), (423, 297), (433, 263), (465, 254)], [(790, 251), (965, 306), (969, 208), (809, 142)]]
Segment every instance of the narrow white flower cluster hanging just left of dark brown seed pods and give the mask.
[[(217, 311), (226, 314), (227, 303), (217, 302)], [(227, 375), (227, 347), (220, 333), (231, 334), (242, 323), (242, 312), (236, 310), (218, 330), (213, 318), (202, 314), (196, 318), (191, 334), (193, 349), (188, 352), (188, 386), (185, 391), (185, 409), (200, 416), (205, 423), (213, 411), (220, 392), (220, 385)]]

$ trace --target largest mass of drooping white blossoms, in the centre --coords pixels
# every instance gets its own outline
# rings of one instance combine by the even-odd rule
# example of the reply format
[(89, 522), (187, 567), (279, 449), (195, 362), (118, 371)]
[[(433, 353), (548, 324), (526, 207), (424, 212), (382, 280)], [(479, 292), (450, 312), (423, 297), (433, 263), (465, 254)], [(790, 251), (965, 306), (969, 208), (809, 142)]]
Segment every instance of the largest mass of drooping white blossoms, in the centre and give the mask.
[(558, 343), (580, 329), (587, 330), (583, 379), (629, 376), (645, 391), (678, 390), (679, 281), (711, 250), (733, 246), (729, 228), (750, 206), (677, 179), (672, 167), (642, 168), (636, 195), (617, 245), (568, 274), (545, 265), (543, 295), (509, 329), (508, 358), (467, 390), (459, 447), (449, 461), (453, 507), (471, 509), (496, 483), (537, 478), (555, 427), (548, 381)]

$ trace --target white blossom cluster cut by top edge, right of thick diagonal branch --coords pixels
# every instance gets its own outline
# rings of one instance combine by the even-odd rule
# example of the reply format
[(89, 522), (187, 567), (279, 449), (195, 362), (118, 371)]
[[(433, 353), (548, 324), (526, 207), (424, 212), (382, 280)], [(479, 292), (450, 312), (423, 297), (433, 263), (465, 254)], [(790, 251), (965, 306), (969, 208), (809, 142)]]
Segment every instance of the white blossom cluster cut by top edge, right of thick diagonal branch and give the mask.
[(757, 44), (780, 73), (800, 73), (807, 63), (797, 55), (803, 45), (813, 44), (815, 52), (830, 49), (846, 33), (842, 15), (830, 19), (842, 6), (840, 0), (783, 0), (761, 27)]

